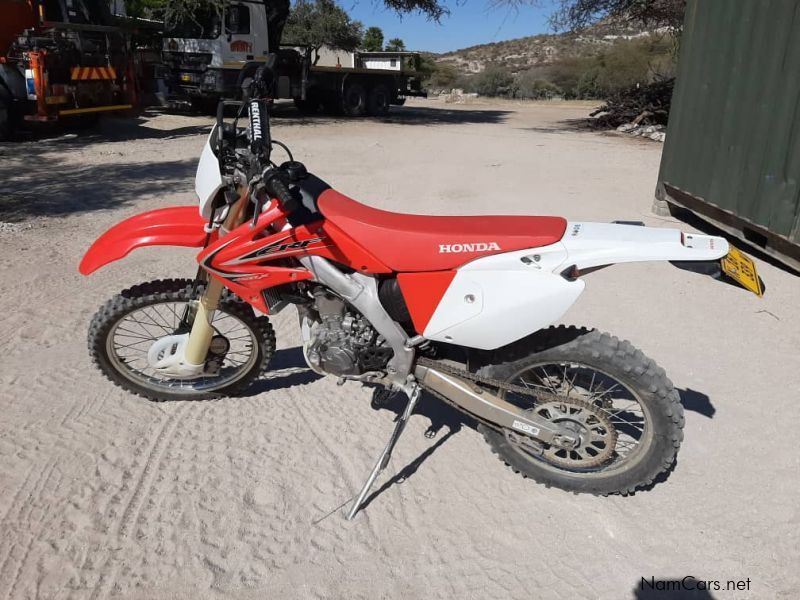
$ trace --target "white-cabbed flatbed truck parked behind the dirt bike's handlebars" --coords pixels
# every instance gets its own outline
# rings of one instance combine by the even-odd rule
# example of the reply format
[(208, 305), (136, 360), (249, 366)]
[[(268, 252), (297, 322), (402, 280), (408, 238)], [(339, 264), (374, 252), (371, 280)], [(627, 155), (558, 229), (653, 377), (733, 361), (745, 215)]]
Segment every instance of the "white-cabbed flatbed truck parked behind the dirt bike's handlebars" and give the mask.
[(168, 25), (161, 72), (167, 103), (212, 107), (236, 99), (242, 69), (270, 53), (278, 56), (275, 97), (294, 100), (305, 113), (380, 116), (408, 96), (425, 96), (417, 53), (356, 52), (347, 65), (317, 65), (316, 50), (280, 43), (288, 14), (288, 0), (241, 0)]

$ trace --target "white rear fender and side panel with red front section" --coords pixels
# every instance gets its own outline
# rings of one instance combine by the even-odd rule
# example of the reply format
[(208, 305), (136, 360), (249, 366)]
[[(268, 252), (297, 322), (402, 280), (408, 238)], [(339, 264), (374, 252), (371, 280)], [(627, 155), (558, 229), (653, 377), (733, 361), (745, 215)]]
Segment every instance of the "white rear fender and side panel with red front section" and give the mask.
[[(418, 333), (491, 350), (558, 321), (585, 287), (583, 280), (572, 277), (575, 269), (654, 260), (710, 261), (727, 253), (728, 242), (720, 237), (573, 222), (555, 244), (485, 256), (446, 278), (415, 273), (401, 275), (399, 281)], [(431, 275), (441, 285), (426, 279)], [(432, 314), (429, 306), (435, 306)]]

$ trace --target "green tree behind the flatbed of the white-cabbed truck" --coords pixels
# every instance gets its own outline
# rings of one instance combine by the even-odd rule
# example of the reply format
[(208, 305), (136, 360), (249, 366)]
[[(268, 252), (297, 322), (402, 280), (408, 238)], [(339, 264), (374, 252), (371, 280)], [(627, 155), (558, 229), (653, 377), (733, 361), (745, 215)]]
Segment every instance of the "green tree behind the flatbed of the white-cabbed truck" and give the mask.
[(283, 40), (314, 50), (314, 64), (319, 49), (330, 46), (352, 51), (361, 44), (363, 25), (353, 21), (333, 0), (298, 0), (289, 13)]

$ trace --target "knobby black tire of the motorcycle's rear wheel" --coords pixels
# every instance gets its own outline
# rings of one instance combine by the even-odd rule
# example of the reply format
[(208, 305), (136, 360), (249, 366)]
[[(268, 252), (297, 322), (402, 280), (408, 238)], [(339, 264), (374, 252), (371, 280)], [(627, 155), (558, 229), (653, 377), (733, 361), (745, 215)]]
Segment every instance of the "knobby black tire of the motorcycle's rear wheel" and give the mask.
[(683, 440), (683, 407), (680, 397), (664, 369), (627, 341), (607, 333), (576, 327), (551, 327), (496, 350), (478, 373), (511, 381), (526, 367), (552, 363), (574, 363), (597, 369), (633, 391), (649, 413), (652, 438), (642, 455), (628, 468), (584, 473), (554, 469), (541, 460), (518, 452), (506, 436), (480, 425), (479, 430), (492, 451), (514, 472), (547, 487), (594, 495), (632, 494), (651, 485), (675, 462)]

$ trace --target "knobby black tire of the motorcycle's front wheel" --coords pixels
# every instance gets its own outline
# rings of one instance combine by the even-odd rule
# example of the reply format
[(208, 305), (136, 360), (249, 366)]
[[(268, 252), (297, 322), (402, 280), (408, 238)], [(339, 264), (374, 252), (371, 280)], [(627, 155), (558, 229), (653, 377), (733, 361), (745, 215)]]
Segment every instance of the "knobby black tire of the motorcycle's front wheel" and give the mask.
[(189, 279), (161, 279), (135, 285), (123, 290), (108, 300), (95, 314), (89, 326), (89, 352), (92, 362), (115, 385), (149, 400), (207, 400), (223, 396), (241, 394), (267, 370), (269, 361), (275, 352), (275, 332), (267, 317), (257, 317), (249, 304), (239, 299), (228, 290), (223, 292), (219, 310), (237, 318), (255, 334), (258, 344), (253, 365), (231, 384), (213, 390), (197, 392), (169, 392), (153, 390), (132, 381), (122, 374), (108, 354), (108, 336), (114, 326), (126, 315), (147, 306), (164, 302), (188, 302), (195, 300), (202, 293), (202, 286), (196, 294), (192, 294), (192, 281)]

